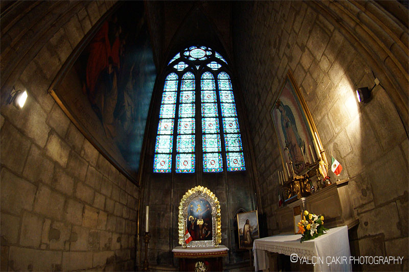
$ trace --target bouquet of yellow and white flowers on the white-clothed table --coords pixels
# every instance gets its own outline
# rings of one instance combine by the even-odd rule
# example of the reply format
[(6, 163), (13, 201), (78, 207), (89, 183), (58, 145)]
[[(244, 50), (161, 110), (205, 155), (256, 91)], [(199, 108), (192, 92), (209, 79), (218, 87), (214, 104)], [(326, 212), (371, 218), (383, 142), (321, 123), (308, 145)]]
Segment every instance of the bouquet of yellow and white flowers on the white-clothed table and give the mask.
[[(306, 218), (307, 216), (307, 218)], [(298, 233), (302, 235), (301, 241), (308, 241), (321, 236), (328, 229), (324, 228), (324, 216), (309, 213), (307, 210), (304, 211), (303, 219), (298, 222)]]

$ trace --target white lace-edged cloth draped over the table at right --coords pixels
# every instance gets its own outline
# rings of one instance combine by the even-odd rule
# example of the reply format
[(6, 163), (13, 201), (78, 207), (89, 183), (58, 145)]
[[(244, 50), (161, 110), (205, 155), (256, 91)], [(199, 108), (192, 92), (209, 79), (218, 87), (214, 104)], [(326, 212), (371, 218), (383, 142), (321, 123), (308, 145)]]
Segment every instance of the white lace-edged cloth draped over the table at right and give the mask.
[(269, 251), (290, 256), (297, 254), (297, 263), (305, 263), (305, 257), (308, 263), (315, 263), (314, 271), (352, 271), (347, 226), (330, 229), (313, 240), (300, 243), (300, 239), (301, 234), (280, 234), (254, 240), (255, 270), (269, 268)]

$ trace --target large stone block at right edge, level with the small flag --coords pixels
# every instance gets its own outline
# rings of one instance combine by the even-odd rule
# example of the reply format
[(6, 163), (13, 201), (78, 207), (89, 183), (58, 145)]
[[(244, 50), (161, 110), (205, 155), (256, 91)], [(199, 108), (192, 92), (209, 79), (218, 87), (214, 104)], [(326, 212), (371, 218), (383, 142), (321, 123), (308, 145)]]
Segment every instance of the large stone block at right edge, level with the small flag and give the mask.
[[(403, 194), (407, 189), (408, 173), (399, 146), (378, 158), (368, 169), (375, 205)], [(393, 181), (393, 182), (387, 182)]]

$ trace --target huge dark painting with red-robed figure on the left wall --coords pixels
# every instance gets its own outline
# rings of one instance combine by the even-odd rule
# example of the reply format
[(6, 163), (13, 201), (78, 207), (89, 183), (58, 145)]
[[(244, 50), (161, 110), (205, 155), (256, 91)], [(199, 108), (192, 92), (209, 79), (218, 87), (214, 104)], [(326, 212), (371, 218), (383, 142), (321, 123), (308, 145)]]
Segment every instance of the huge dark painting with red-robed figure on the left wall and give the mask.
[(145, 17), (143, 2), (113, 6), (50, 91), (96, 149), (135, 183), (156, 79)]

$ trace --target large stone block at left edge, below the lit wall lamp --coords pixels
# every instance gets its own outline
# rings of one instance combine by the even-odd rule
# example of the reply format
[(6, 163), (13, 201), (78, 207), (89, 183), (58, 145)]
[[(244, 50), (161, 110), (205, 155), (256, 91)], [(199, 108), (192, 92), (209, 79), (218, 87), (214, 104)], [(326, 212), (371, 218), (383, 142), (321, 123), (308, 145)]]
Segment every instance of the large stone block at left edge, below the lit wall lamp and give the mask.
[(30, 149), (29, 139), (18, 132), (9, 122), (6, 122), (2, 127), (0, 135), (2, 165), (21, 173)]

